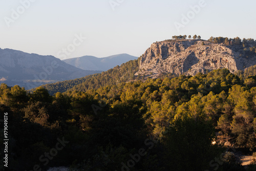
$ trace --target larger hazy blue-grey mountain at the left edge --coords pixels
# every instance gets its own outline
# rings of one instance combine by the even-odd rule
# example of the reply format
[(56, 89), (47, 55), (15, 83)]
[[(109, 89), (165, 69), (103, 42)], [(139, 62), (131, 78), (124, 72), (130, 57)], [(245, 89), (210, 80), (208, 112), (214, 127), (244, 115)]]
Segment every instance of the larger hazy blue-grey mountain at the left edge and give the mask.
[(0, 83), (31, 89), (41, 84), (81, 78), (101, 71), (84, 71), (54, 56), (0, 48)]

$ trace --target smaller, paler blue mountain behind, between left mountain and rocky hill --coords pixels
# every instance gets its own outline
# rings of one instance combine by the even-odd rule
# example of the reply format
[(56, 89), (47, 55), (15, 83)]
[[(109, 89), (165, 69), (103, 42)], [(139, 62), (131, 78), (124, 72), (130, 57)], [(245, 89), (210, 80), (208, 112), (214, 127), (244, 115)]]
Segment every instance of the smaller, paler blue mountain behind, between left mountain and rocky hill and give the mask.
[(82, 70), (108, 71), (116, 66), (120, 66), (122, 63), (134, 59), (138, 59), (138, 57), (124, 53), (103, 58), (97, 58), (95, 56), (82, 56), (65, 59), (63, 61)]

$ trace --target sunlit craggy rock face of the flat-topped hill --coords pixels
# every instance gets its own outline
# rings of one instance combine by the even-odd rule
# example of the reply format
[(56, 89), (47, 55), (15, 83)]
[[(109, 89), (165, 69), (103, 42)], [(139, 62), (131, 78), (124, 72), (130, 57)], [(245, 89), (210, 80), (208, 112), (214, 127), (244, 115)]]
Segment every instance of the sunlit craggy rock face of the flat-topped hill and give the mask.
[(256, 65), (255, 59), (255, 55), (246, 56), (242, 46), (204, 40), (165, 40), (155, 42), (146, 50), (141, 57), (140, 70), (135, 75), (153, 78), (161, 73), (196, 75), (222, 68), (233, 73)]

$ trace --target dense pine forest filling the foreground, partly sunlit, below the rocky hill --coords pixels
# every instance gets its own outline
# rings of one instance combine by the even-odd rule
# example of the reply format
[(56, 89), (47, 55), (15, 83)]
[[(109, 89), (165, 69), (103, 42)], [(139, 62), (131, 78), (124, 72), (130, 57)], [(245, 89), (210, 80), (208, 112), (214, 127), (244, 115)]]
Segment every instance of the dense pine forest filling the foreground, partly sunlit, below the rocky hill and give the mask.
[(254, 162), (244, 168), (239, 158), (256, 150), (255, 76), (219, 69), (108, 83), (97, 89), (81, 83), (80, 91), (54, 96), (42, 87), (27, 93), (1, 84), (9, 170), (256, 169)]

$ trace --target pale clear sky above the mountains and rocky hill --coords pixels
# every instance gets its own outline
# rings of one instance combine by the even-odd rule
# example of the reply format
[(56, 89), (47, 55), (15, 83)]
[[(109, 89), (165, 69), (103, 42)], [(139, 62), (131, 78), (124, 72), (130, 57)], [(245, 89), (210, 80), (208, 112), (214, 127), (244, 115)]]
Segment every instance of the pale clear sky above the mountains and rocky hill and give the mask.
[(60, 59), (142, 55), (173, 35), (256, 39), (252, 0), (1, 0), (0, 48)]

